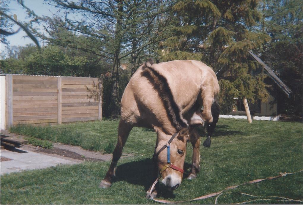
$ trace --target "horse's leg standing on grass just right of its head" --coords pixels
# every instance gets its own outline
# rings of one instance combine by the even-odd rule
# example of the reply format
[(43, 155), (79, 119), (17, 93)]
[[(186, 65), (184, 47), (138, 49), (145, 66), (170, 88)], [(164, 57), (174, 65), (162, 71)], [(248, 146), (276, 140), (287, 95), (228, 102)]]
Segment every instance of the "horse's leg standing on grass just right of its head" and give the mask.
[(200, 172), (200, 136), (196, 128), (192, 128), (190, 133), (190, 142), (192, 145), (192, 163), (190, 174), (187, 179), (191, 180), (197, 177), (197, 173)]

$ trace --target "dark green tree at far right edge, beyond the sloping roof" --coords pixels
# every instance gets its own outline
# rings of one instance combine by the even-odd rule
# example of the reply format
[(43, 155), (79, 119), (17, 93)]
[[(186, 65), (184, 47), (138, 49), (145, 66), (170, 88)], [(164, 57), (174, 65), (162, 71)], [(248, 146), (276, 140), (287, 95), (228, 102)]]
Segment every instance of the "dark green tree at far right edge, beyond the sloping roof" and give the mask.
[(303, 115), (303, 2), (265, 0), (261, 4), (262, 31), (271, 36), (262, 59), (293, 91), (290, 98), (280, 93), (282, 112)]

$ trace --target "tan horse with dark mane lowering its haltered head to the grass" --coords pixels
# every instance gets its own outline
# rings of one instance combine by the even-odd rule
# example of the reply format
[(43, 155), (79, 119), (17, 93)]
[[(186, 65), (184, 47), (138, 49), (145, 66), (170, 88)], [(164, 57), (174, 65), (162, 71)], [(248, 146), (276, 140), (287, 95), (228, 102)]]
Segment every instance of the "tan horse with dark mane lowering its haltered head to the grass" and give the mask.
[[(100, 187), (111, 186), (123, 146), (134, 126), (153, 128), (157, 133), (155, 178), (160, 172), (160, 182), (170, 190), (180, 185), (187, 141), (193, 146), (188, 179), (195, 178), (200, 171), (200, 136), (195, 127), (205, 125), (208, 136), (212, 135), (219, 117), (218, 93), (215, 72), (202, 62), (175, 60), (153, 64), (149, 59), (134, 73), (123, 93), (118, 142)], [(156, 190), (147, 193), (153, 197), (157, 194)]]

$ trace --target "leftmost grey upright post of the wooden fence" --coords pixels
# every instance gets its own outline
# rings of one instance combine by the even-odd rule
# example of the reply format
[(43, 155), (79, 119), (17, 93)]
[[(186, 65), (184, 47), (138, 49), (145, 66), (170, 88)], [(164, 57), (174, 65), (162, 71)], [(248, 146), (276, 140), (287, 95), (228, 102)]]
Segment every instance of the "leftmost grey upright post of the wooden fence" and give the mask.
[(13, 126), (13, 76), (5, 75), (6, 129)]

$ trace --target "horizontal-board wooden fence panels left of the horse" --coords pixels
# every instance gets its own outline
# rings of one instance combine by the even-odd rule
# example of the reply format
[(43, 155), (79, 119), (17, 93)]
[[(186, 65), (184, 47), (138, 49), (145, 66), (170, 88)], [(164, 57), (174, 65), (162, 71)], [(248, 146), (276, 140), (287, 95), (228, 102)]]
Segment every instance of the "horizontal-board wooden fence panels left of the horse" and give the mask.
[(5, 100), (1, 102), (1, 113), (5, 113), (1, 129), (16, 124), (101, 120), (102, 83), (98, 78), (5, 74)]

